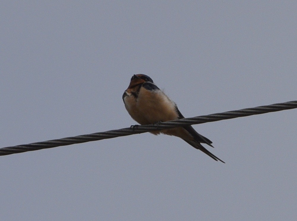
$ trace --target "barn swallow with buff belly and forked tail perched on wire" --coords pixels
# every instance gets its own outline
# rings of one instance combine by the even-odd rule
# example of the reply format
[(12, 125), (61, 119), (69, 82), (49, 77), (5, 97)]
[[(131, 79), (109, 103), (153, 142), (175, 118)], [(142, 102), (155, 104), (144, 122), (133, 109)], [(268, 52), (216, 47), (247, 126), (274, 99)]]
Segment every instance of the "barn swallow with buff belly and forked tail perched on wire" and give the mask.
[[(123, 94), (123, 101), (129, 115), (141, 125), (184, 118), (176, 104), (145, 74), (134, 74), (132, 76), (129, 87)], [(150, 133), (155, 135), (164, 133), (180, 137), (214, 160), (225, 163), (200, 144), (204, 143), (213, 147), (212, 142), (197, 133), (191, 125), (151, 131)]]

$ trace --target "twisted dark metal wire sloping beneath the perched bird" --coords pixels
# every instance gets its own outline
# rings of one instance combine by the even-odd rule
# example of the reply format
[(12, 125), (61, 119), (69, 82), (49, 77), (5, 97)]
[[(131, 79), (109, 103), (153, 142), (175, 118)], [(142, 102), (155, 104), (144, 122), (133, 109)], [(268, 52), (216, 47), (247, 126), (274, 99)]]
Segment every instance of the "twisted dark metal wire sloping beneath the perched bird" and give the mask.
[(159, 122), (159, 123), (154, 123), (149, 125), (141, 125), (141, 126), (135, 125), (135, 126), (131, 126), (130, 128), (122, 128), (119, 130), (111, 130), (111, 131), (105, 131), (105, 132), (84, 134), (80, 136), (65, 137), (61, 139), (42, 141), (42, 142), (36, 142), (31, 144), (22, 144), (22, 145), (17, 145), (13, 147), (4, 147), (4, 148), (0, 148), (0, 156), (33, 151), (33, 150), (41, 150), (41, 149), (52, 148), (52, 147), (66, 146), (70, 144), (84, 143), (89, 141), (109, 139), (109, 138), (114, 138), (119, 136), (128, 136), (131, 134), (145, 133), (149, 131), (162, 130), (165, 128), (167, 129), (167, 128), (185, 126), (185, 125), (201, 124), (201, 123), (218, 121), (218, 120), (232, 119), (236, 117), (246, 117), (250, 115), (264, 114), (268, 112), (275, 112), (275, 111), (294, 109), (294, 108), (297, 108), (297, 101), (288, 101), (285, 103), (245, 108), (245, 109), (222, 112), (217, 114), (190, 117), (190, 118), (184, 118), (180, 120), (171, 120), (167, 122)]

